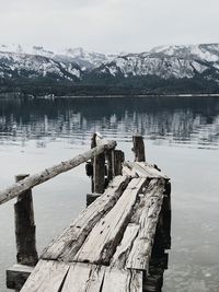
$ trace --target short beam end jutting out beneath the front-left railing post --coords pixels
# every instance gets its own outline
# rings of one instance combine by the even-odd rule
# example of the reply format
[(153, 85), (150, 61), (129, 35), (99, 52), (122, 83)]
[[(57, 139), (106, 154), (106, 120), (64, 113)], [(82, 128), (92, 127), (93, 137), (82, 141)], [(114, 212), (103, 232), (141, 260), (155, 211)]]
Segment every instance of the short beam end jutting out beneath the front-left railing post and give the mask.
[(20, 291), (34, 267), (15, 264), (7, 269), (7, 288)]

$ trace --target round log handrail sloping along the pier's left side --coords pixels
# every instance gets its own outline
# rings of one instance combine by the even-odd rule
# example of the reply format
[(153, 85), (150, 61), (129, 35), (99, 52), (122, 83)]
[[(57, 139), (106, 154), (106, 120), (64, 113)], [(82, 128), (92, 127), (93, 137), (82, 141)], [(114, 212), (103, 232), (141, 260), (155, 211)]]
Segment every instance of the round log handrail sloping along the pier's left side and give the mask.
[(9, 188), (0, 191), (0, 205), (7, 202), (18, 196), (20, 196), (23, 191), (31, 189), (42, 183), (64, 173), (67, 171), (72, 170), (73, 167), (80, 165), (83, 162), (103, 153), (105, 150), (110, 150), (116, 147), (115, 141), (108, 141), (107, 144), (97, 145), (78, 156), (73, 157), (72, 160), (61, 162), (53, 167), (46, 168), (45, 171), (28, 176), (21, 182), (15, 183), (14, 185), (10, 186)]

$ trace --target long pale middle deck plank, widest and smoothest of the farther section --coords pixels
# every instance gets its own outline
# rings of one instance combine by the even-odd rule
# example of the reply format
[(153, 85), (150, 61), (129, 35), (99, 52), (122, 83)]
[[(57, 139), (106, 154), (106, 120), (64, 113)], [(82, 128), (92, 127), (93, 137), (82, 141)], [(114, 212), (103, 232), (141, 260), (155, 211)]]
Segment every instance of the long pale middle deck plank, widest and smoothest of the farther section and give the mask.
[(131, 217), (147, 178), (132, 178), (114, 208), (93, 227), (76, 255), (76, 261), (108, 265)]

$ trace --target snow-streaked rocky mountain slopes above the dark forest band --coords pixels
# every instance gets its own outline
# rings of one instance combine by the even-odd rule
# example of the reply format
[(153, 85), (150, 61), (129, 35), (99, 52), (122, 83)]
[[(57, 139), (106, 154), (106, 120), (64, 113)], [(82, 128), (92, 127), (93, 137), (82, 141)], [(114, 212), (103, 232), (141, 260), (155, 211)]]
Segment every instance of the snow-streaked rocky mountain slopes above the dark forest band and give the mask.
[(55, 51), (43, 46), (0, 45), (0, 79), (21, 78), (26, 82), (48, 78), (54, 84), (65, 80), (82, 86), (113, 87), (116, 84), (142, 87), (149, 79), (169, 82), (169, 87), (176, 81), (188, 82), (189, 86), (195, 82), (197, 89), (211, 82), (217, 89), (219, 44), (163, 46), (139, 54), (117, 55), (88, 51), (81, 47)]

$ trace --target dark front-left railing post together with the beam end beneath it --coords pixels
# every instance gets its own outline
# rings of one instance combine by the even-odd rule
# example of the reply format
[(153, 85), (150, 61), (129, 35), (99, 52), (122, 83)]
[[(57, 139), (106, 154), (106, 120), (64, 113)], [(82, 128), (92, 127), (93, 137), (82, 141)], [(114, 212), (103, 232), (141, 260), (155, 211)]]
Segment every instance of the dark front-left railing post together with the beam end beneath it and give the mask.
[[(15, 182), (28, 175), (16, 175)], [(38, 261), (32, 190), (18, 197), (14, 205), (16, 265), (7, 270), (7, 288), (20, 291)]]

